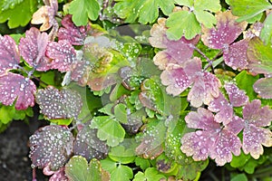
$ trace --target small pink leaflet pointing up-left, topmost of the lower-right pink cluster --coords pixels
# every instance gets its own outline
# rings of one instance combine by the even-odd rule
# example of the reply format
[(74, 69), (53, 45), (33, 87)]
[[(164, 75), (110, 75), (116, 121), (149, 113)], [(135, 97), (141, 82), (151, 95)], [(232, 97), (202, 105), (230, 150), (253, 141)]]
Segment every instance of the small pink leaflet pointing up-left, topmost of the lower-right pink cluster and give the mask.
[(232, 82), (225, 83), (224, 87), (227, 90), (229, 101), (233, 107), (246, 105), (248, 96), (245, 90), (239, 90), (237, 85)]

